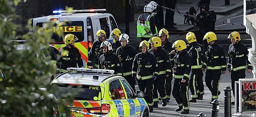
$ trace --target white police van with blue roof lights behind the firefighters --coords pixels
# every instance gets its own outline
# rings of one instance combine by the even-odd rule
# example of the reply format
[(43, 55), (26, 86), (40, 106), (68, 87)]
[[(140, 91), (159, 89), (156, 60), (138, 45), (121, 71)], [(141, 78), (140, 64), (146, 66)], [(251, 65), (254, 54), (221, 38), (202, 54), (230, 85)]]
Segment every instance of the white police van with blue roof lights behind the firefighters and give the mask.
[(66, 34), (74, 34), (78, 37), (78, 41), (75, 42), (74, 46), (79, 49), (83, 64), (87, 68), (86, 63), (92, 43), (97, 41), (96, 32), (99, 29), (104, 30), (106, 32), (106, 38), (110, 42), (113, 42), (114, 39), (110, 38), (110, 34), (112, 30), (118, 28), (113, 15), (109, 13), (97, 13), (104, 11), (106, 11), (106, 9), (71, 10), (71, 13), (68, 13), (67, 10), (53, 11), (54, 14), (59, 14), (33, 18), (31, 19), (31, 27), (33, 27), (33, 29), (42, 28), (43, 23), (51, 21), (66, 22), (64, 26), (53, 27), (54, 34), (52, 39), (54, 39), (54, 41), (50, 42), (50, 44), (57, 49), (61, 49), (61, 47), (65, 46), (62, 36), (57, 35), (57, 31), (59, 30), (62, 30), (64, 36)]

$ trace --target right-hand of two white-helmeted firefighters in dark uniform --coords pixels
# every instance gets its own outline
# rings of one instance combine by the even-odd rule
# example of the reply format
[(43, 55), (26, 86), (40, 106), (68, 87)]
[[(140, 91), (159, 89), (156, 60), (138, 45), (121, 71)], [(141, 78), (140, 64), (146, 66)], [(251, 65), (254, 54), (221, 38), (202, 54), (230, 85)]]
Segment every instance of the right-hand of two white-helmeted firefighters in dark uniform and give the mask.
[(133, 91), (135, 90), (136, 80), (131, 75), (132, 63), (135, 55), (137, 54), (136, 49), (129, 45), (130, 39), (127, 34), (122, 34), (119, 38), (121, 42), (121, 47), (118, 47), (116, 50), (116, 55), (119, 58), (119, 61), (122, 65), (123, 77), (131, 85)]

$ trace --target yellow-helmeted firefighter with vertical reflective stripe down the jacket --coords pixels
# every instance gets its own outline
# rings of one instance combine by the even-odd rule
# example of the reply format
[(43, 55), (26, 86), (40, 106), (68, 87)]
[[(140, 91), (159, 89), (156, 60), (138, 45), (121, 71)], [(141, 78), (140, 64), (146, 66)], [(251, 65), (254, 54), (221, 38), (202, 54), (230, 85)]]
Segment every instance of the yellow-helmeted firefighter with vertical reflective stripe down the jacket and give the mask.
[[(189, 88), (191, 92), (191, 100), (189, 102), (196, 102), (197, 98), (204, 95), (204, 84), (202, 81), (202, 48), (197, 45), (195, 35), (189, 34), (186, 36), (187, 52), (191, 56), (191, 71), (189, 75)], [(199, 90), (200, 89), (200, 90)]]

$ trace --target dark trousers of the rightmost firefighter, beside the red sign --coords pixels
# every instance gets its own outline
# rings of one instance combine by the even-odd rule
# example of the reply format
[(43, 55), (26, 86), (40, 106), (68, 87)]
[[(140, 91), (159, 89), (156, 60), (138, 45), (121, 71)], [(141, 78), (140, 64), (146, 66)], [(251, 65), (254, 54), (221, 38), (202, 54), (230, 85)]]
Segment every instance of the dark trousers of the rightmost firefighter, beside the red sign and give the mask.
[(233, 96), (235, 97), (235, 81), (238, 81), (239, 78), (246, 78), (245, 75), (246, 69), (237, 70), (237, 71), (231, 71), (231, 87), (233, 91)]

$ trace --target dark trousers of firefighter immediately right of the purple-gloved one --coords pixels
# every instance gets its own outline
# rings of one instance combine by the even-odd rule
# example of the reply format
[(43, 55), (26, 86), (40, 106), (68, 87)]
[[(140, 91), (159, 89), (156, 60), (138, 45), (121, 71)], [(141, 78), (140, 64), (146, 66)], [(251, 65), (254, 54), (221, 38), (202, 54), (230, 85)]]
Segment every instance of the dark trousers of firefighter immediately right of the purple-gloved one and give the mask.
[(158, 95), (157, 91), (161, 97), (162, 100), (166, 99), (166, 93), (165, 93), (165, 74), (159, 75), (159, 77), (153, 81), (154, 89), (153, 89), (153, 102), (158, 103)]

